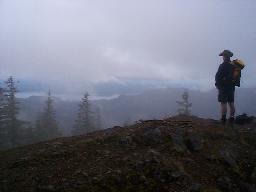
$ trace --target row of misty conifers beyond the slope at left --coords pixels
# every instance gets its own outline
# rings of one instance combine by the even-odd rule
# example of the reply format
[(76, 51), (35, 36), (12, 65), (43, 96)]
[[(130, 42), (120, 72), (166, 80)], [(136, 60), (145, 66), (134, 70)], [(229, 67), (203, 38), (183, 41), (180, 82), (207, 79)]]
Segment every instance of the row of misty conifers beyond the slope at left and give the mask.
[[(51, 91), (48, 92), (44, 108), (35, 122), (26, 122), (18, 118), (20, 103), (16, 97), (17, 92), (17, 82), (13, 77), (9, 77), (0, 85), (0, 149), (61, 137), (62, 129), (56, 120)], [(72, 135), (86, 134), (100, 128), (100, 110), (97, 107), (93, 109), (89, 94), (86, 93), (79, 103)]]

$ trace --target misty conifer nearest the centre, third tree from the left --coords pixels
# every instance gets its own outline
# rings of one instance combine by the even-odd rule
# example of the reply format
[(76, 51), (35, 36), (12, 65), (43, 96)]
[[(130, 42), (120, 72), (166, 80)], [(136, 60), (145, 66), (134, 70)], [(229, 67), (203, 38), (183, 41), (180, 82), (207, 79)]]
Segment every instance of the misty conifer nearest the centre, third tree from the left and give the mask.
[(77, 118), (72, 130), (73, 135), (81, 135), (95, 130), (92, 114), (89, 94), (86, 93), (79, 104)]

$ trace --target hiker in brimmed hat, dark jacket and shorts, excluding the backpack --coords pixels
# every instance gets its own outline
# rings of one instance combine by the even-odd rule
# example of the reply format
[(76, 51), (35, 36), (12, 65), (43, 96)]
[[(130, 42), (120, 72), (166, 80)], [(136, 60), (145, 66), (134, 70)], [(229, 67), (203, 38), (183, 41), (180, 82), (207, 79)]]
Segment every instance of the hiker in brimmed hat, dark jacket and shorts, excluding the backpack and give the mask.
[(224, 50), (219, 56), (223, 57), (223, 63), (220, 64), (215, 75), (215, 86), (219, 91), (218, 101), (221, 103), (221, 122), (223, 124), (226, 123), (228, 103), (230, 109), (229, 122), (232, 125), (235, 116), (235, 84), (233, 81), (234, 65), (231, 63), (230, 58), (233, 56), (233, 53), (229, 50)]

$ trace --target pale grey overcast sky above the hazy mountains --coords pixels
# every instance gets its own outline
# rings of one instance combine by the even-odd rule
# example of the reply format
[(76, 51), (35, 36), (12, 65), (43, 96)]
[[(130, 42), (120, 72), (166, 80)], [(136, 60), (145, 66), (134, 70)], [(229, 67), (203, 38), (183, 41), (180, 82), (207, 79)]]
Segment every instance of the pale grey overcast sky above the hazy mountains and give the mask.
[(0, 0), (0, 79), (206, 88), (230, 49), (255, 86), (255, 10), (255, 0)]

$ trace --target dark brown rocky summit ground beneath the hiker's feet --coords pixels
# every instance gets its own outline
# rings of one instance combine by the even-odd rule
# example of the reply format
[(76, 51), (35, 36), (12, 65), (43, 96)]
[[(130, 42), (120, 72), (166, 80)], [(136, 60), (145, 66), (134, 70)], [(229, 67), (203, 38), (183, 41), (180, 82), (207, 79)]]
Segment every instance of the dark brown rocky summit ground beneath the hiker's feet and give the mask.
[(1, 192), (253, 192), (256, 123), (177, 116), (0, 151)]

